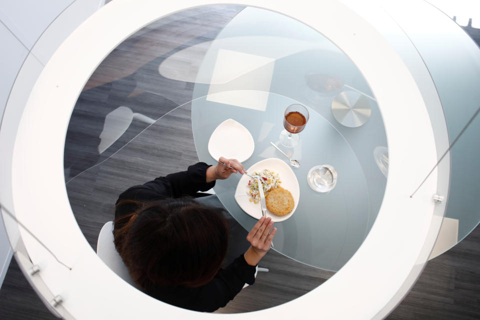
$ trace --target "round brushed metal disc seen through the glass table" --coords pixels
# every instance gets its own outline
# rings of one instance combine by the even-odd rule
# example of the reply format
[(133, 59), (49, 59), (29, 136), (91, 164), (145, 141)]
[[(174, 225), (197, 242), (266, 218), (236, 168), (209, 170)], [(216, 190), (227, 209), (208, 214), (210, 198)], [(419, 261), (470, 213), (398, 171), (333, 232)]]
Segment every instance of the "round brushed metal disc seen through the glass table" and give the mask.
[(354, 128), (370, 118), (370, 102), (356, 91), (341, 91), (331, 102), (331, 113), (339, 123)]

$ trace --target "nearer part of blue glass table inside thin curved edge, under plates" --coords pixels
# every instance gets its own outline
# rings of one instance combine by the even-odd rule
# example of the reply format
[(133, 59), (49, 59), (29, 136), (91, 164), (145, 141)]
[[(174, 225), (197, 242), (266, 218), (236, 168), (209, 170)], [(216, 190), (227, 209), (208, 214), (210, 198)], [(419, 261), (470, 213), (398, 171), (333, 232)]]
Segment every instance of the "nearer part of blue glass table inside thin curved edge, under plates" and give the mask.
[[(228, 92), (222, 93), (225, 94)], [(246, 98), (249, 95), (254, 98), (255, 94), (254, 91), (243, 92)], [(253, 154), (243, 162), (245, 168), (270, 157), (288, 163), (270, 141), (279, 144), (284, 109), (298, 101), (274, 93), (264, 94), (267, 94), (267, 102), (262, 110), (219, 103), (211, 95), (192, 101), (192, 131), (200, 161), (215, 162), (208, 152), (209, 137), (218, 124), (232, 118), (248, 129), (255, 143)], [(371, 211), (367, 177), (350, 144), (318, 112), (309, 108), (309, 113), (308, 123), (299, 133), (299, 144), (292, 148), (280, 145), (301, 163), (299, 168), (293, 169), (300, 187), (300, 199), (290, 218), (275, 223), (278, 231), (273, 241), (274, 249), (300, 262), (336, 271), (360, 246), (376, 212)], [(355, 129), (361, 132), (362, 128)], [(307, 184), (308, 170), (318, 164), (332, 165), (338, 172), (337, 183), (328, 193), (315, 192)], [(226, 180), (218, 180), (214, 191), (230, 214), (249, 230), (256, 219), (245, 213), (234, 199), (240, 177), (234, 174)]]

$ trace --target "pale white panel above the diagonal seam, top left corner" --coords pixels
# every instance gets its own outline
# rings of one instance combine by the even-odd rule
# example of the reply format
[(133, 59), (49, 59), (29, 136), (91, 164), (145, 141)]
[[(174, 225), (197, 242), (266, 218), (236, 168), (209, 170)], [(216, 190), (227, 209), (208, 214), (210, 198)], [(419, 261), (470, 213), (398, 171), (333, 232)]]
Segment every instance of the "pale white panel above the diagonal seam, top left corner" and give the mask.
[(0, 20), (31, 49), (43, 30), (73, 0), (3, 0)]

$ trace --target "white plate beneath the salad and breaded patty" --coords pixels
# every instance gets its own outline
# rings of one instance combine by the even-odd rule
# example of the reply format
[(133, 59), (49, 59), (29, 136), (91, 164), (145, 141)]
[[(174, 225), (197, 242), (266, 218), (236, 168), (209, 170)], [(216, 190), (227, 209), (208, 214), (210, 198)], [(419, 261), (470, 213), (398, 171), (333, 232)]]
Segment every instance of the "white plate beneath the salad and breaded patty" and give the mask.
[[(293, 212), (295, 212), (298, 205), (298, 200), (300, 199), (300, 186), (298, 185), (296, 175), (295, 173), (293, 173), (293, 170), (288, 164), (286, 164), (283, 160), (277, 158), (268, 158), (256, 162), (247, 169), (247, 172), (251, 174), (255, 171), (261, 171), (263, 169), (268, 169), (274, 171), (275, 173), (278, 173), (281, 181), (280, 186), (290, 191), (291, 195), (293, 196), (293, 201), (295, 201), (293, 210), (291, 210), (290, 213), (283, 216), (278, 216), (271, 213), (267, 209), (266, 216), (271, 217), (271, 220), (274, 222), (286, 220), (293, 214)], [(251, 178), (248, 175), (243, 175), (240, 178), (240, 181), (238, 181), (235, 190), (235, 200), (243, 211), (256, 219), (259, 219), (261, 218), (260, 202), (250, 202), (250, 195), (247, 194), (249, 179)]]

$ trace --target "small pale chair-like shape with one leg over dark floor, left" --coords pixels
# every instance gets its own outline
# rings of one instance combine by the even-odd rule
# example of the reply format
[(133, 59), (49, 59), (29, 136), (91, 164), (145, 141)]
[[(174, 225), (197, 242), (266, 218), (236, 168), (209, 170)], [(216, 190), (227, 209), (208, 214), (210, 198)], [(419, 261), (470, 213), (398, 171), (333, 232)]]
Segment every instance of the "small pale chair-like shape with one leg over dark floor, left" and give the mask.
[(105, 151), (113, 144), (130, 126), (133, 119), (152, 124), (154, 119), (146, 115), (135, 113), (126, 106), (119, 106), (105, 116), (103, 130), (100, 133), (100, 143), (98, 144), (98, 153)]

